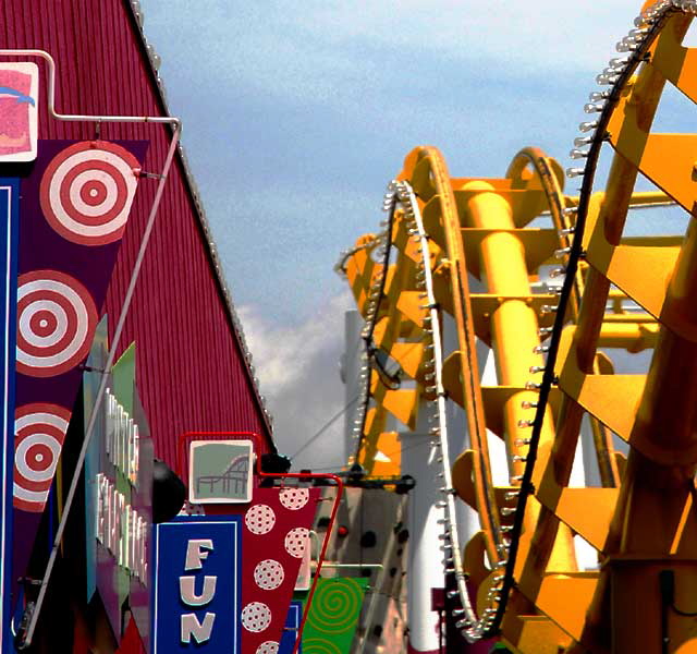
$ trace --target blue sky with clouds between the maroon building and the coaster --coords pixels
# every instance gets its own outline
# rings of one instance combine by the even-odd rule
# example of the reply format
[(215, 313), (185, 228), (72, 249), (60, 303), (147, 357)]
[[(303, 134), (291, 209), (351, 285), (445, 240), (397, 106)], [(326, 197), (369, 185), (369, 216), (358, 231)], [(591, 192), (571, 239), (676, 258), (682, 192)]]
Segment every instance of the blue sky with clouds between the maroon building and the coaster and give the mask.
[[(635, 0), (140, 0), (281, 451), (344, 407), (342, 250), (430, 144), (456, 177), (535, 145), (565, 168)], [(333, 468), (343, 423), (295, 468)]]

